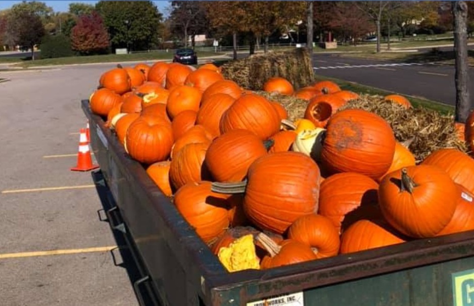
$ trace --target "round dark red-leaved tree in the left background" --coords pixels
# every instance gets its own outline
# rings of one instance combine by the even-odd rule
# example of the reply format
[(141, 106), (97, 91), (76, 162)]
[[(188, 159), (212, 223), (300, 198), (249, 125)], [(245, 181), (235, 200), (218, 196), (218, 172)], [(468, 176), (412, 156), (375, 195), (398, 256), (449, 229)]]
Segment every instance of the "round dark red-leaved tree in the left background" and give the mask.
[(84, 55), (104, 53), (109, 48), (109, 33), (96, 12), (79, 17), (71, 30), (72, 50)]

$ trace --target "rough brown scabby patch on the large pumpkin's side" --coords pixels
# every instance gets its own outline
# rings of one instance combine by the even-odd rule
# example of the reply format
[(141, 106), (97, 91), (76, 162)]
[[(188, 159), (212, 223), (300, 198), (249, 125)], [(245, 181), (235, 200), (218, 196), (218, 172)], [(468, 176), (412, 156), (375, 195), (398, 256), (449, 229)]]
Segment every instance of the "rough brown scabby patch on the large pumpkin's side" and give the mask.
[(331, 138), (337, 139), (335, 147), (338, 151), (350, 148), (358, 148), (362, 143), (362, 128), (351, 119), (337, 121), (331, 128)]

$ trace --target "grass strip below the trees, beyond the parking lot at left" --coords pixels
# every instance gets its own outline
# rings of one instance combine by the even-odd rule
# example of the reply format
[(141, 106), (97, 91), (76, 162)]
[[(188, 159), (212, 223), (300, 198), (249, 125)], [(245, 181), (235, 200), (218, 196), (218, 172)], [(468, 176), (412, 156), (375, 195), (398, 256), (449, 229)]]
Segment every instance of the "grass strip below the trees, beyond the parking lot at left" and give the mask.
[[(198, 59), (208, 56), (219, 56), (222, 53), (198, 51)], [(133, 54), (107, 54), (107, 55), (92, 55), (92, 56), (74, 56), (62, 57), (55, 59), (38, 59), (38, 60), (24, 60), (12, 58), (0, 58), (0, 63), (19, 62), (16, 66), (31, 67), (31, 66), (48, 66), (48, 65), (70, 65), (70, 64), (87, 64), (87, 63), (119, 63), (127, 61), (154, 61), (154, 60), (171, 60), (172, 52), (147, 52), (147, 53), (133, 53)]]

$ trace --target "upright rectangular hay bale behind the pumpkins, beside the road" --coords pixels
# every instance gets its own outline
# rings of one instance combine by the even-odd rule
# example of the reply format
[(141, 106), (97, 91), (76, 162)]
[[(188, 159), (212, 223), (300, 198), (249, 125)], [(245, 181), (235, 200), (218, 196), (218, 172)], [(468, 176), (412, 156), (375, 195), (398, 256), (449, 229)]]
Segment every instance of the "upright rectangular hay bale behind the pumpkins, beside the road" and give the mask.
[(262, 90), (265, 81), (274, 76), (286, 78), (295, 89), (314, 81), (311, 58), (308, 51), (302, 48), (289, 52), (255, 54), (226, 63), (221, 69), (225, 78), (253, 91)]

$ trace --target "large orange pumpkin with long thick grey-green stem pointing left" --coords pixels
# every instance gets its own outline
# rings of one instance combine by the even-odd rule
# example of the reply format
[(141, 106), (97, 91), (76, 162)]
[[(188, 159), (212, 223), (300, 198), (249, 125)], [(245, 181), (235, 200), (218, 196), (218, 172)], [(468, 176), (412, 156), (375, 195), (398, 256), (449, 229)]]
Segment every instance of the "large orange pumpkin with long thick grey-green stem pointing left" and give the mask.
[(216, 192), (245, 192), (244, 210), (261, 229), (284, 233), (302, 215), (315, 213), (319, 167), (298, 152), (277, 152), (256, 159), (245, 183), (214, 183)]

